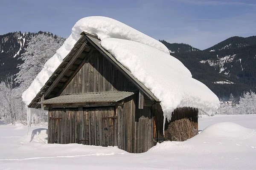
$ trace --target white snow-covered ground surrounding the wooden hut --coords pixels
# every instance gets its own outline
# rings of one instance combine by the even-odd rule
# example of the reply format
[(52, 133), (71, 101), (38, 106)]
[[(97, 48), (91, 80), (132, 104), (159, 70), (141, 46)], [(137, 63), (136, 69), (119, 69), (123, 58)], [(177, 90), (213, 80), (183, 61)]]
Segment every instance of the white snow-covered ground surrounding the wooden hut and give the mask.
[(255, 122), (256, 115), (203, 116), (199, 130), (204, 131), (194, 138), (163, 142), (146, 153), (132, 154), (117, 147), (44, 144), (47, 127), (31, 127), (27, 136), (26, 127), (3, 125), (0, 121), (0, 170), (253, 170)]

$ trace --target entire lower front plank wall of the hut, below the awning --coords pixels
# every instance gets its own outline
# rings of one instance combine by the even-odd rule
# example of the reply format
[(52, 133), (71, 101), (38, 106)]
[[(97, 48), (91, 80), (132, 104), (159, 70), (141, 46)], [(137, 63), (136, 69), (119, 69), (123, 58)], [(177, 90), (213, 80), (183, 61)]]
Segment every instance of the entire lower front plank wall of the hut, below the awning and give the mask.
[(153, 146), (152, 107), (139, 109), (138, 103), (139, 93), (115, 107), (52, 108), (48, 143), (118, 146), (143, 153)]

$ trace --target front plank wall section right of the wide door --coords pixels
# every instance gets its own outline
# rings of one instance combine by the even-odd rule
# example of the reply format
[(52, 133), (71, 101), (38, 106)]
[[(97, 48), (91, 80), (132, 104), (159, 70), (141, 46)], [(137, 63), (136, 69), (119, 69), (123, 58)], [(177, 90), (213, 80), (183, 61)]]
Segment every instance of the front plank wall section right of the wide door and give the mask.
[(143, 153), (153, 146), (151, 108), (138, 108), (138, 94), (125, 99), (118, 112), (118, 147), (130, 153)]

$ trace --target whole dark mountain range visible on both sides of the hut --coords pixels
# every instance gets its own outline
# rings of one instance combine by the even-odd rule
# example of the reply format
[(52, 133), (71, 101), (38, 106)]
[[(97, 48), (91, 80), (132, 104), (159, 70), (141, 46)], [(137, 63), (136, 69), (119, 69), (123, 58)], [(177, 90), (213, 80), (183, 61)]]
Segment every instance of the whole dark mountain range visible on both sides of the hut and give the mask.
[[(25, 52), (31, 37), (38, 33), (11, 32), (0, 35), (0, 82), (6, 76), (19, 72), (23, 63), (20, 56)], [(207, 85), (219, 98), (236, 98), (243, 91), (256, 91), (256, 36), (231, 37), (205, 50), (184, 43), (160, 40), (170, 54), (179, 59), (191, 71), (193, 78)]]

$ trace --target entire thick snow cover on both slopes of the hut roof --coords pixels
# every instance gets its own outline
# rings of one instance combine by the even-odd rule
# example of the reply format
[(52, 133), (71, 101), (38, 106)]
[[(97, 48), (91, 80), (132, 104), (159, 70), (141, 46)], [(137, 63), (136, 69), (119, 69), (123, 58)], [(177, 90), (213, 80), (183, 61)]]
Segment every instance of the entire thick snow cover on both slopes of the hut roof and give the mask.
[(23, 101), (27, 105), (71, 51), (83, 31), (97, 36), (101, 46), (161, 101), (167, 118), (171, 118), (175, 108), (199, 108), (209, 115), (218, 109), (218, 97), (206, 85), (193, 79), (190, 71), (169, 55), (165, 45), (107, 17), (85, 17), (75, 24), (64, 45), (46, 62), (43, 70), (23, 93)]

